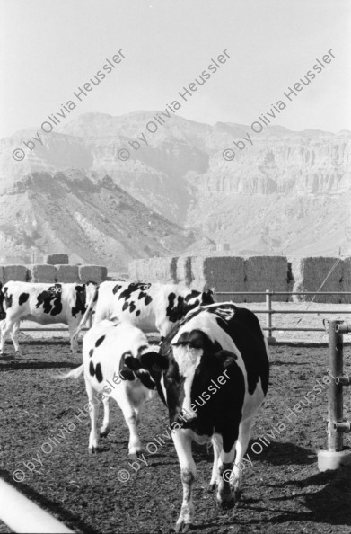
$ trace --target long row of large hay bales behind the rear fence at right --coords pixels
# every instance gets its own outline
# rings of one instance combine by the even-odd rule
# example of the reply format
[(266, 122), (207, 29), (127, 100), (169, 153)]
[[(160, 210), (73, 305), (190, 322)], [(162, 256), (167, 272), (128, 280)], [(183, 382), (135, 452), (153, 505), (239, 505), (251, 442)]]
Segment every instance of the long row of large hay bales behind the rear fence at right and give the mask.
[[(285, 256), (180, 256), (134, 260), (129, 264), (133, 281), (179, 283), (199, 291), (258, 291), (267, 289), (285, 293), (272, 300), (292, 301), (294, 291), (316, 291), (329, 274), (337, 258)], [(321, 291), (351, 291), (351, 258), (340, 261)], [(313, 296), (296, 296), (295, 302), (311, 300)], [(262, 302), (265, 295), (225, 295), (220, 301)], [(316, 296), (315, 302), (351, 302), (351, 295)]]

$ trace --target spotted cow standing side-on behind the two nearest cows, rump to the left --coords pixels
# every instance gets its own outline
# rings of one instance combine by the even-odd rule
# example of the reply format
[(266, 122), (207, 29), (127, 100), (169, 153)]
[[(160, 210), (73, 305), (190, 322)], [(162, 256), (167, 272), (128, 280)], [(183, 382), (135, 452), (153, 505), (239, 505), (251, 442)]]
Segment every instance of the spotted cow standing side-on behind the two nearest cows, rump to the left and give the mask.
[(104, 281), (95, 289), (76, 335), (95, 309), (94, 325), (118, 317), (146, 333), (158, 330), (163, 338), (189, 310), (212, 303), (211, 290), (201, 293), (176, 284)]

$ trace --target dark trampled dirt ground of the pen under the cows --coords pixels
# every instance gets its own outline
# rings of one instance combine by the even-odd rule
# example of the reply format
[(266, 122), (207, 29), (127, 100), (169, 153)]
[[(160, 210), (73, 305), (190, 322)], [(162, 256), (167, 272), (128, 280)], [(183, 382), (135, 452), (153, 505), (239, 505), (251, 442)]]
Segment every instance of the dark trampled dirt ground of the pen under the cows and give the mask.
[[(6, 346), (13, 354), (13, 346)], [(15, 360), (0, 359), (0, 476), (76, 532), (168, 532), (180, 512), (182, 491), (171, 440), (163, 437), (164, 444), (157, 445), (168, 424), (158, 397), (145, 406), (140, 428), (145, 445), (154, 442), (149, 446), (154, 453), (145, 451), (147, 466), (140, 464), (136, 472), (128, 464), (127, 426), (117, 405), (101, 452), (89, 455), (88, 417), (76, 417), (87, 402), (83, 378), (52, 378), (81, 363), (80, 357), (70, 355), (68, 343), (34, 340), (22, 343), (22, 350)], [(350, 352), (346, 346), (346, 361)], [(242, 500), (234, 514), (217, 510), (215, 494), (207, 491), (212, 449), (194, 446), (194, 531), (351, 532), (351, 468), (326, 473), (317, 468), (317, 450), (327, 444), (327, 354), (327, 345), (271, 347), (268, 397), (253, 428)], [(305, 399), (312, 391), (315, 398)], [(349, 415), (347, 389), (345, 393)], [(301, 412), (292, 415), (289, 409), (302, 399)], [(274, 430), (279, 422), (285, 423), (285, 429), (279, 425), (280, 433)], [(49, 441), (55, 437), (57, 441)], [(262, 445), (259, 438), (269, 443)], [(129, 480), (121, 482), (118, 476)], [(0, 532), (8, 531), (0, 524)]]

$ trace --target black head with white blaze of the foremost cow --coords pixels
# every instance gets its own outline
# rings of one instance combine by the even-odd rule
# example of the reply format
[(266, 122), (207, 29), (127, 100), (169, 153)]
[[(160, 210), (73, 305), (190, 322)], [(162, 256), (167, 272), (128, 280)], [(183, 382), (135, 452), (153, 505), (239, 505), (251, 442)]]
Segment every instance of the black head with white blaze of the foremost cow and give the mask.
[[(158, 391), (162, 389), (170, 422), (196, 430), (207, 429), (215, 419), (217, 406), (210, 401), (217, 389), (212, 380), (227, 369), (232, 372), (236, 358), (233, 352), (223, 351), (221, 345), (211, 341), (202, 330), (181, 328), (180, 335), (172, 332), (166, 338), (160, 353), (143, 355), (138, 365), (150, 372), (156, 384), (161, 384)], [(210, 428), (208, 431), (212, 432)]]

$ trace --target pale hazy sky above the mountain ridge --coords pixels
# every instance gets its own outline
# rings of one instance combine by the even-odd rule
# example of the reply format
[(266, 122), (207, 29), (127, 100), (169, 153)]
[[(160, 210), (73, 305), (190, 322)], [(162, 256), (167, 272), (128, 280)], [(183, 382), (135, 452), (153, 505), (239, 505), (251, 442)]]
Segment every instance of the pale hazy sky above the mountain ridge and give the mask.
[[(164, 110), (224, 49), (179, 114), (250, 124), (332, 49), (335, 59), (275, 124), (351, 129), (349, 0), (0, 0), (0, 138), (37, 129), (122, 49), (69, 114)], [(76, 101), (76, 99), (75, 99)]]

